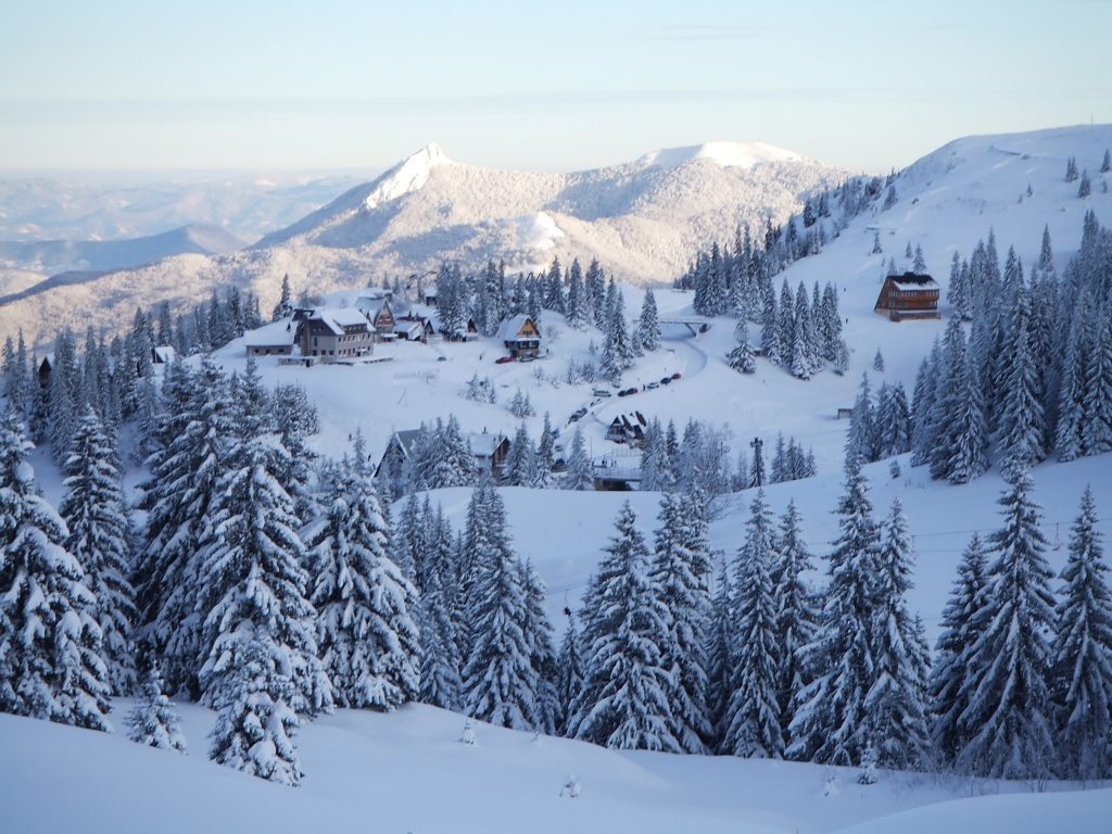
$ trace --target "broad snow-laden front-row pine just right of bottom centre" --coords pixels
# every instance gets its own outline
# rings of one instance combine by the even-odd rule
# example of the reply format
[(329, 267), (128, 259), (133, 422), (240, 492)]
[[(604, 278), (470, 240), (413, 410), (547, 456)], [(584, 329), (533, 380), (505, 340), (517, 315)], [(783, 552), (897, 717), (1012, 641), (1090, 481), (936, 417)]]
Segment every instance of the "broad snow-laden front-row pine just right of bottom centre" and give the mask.
[(678, 753), (668, 705), (673, 682), (661, 644), (669, 614), (645, 575), (648, 548), (628, 502), (583, 599), (585, 679), (569, 734), (619, 749)]

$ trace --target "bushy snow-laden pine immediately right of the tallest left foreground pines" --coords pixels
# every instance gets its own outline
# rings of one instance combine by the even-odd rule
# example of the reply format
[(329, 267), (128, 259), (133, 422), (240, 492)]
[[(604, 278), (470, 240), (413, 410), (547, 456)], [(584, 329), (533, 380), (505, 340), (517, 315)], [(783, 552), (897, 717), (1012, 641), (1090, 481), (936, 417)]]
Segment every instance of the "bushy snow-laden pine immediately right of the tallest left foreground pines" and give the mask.
[(337, 705), (389, 712), (417, 697), (417, 592), (387, 553), (368, 473), (347, 457), (340, 468), (306, 537), (317, 646)]

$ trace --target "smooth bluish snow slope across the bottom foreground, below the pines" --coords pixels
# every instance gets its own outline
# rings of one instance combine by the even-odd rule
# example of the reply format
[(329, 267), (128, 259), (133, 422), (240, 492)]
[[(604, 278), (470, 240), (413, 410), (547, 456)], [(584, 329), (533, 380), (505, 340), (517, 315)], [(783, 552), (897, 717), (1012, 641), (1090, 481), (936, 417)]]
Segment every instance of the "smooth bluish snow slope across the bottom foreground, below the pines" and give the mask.
[[(117, 702), (113, 719), (126, 711)], [(0, 715), (4, 830), (927, 834), (980, 821), (977, 831), (1095, 834), (1112, 802), (1109, 791), (1032, 795), (1025, 784), (905, 774), (866, 787), (848, 768), (608, 751), (485, 724), (469, 746), (458, 741), (458, 715), (416, 705), (394, 715), (339, 711), (306, 726), (297, 742), (307, 775), (289, 788), (209, 762), (214, 714), (182, 713), (185, 756)], [(562, 796), (573, 775), (579, 796)]]

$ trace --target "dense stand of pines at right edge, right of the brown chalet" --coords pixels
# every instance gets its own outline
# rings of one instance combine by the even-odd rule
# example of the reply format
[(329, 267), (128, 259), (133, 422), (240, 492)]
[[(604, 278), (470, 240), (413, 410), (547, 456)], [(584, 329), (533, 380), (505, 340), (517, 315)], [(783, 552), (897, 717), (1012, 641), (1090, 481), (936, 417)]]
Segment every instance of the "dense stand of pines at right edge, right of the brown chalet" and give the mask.
[(962, 484), (992, 450), (1025, 463), (1112, 450), (1112, 232), (1092, 211), (1061, 276), (1049, 230), (1026, 278), (1014, 249), (1001, 270), (990, 234), (967, 261), (954, 255), (949, 297), (959, 315), (915, 384), (914, 464)]

